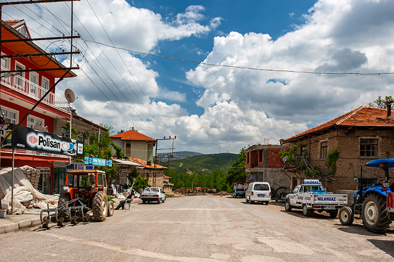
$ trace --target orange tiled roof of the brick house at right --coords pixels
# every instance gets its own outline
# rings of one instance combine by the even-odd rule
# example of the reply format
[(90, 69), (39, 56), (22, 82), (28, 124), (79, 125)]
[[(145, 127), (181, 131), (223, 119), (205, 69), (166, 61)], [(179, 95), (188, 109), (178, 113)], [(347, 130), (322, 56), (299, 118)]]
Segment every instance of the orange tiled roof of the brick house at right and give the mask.
[(293, 140), (304, 135), (320, 131), (332, 126), (367, 126), (367, 127), (394, 127), (394, 121), (386, 120), (387, 109), (378, 107), (361, 106), (342, 116), (338, 116), (328, 122), (312, 127), (293, 137), (282, 140)]

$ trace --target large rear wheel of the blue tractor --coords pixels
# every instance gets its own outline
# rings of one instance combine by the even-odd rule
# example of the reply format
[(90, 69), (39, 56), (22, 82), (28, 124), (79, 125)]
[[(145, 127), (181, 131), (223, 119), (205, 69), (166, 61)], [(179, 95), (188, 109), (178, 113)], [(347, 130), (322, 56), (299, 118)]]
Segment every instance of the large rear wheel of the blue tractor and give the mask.
[(387, 230), (391, 221), (387, 213), (386, 198), (371, 194), (362, 204), (362, 224), (373, 233), (382, 233)]

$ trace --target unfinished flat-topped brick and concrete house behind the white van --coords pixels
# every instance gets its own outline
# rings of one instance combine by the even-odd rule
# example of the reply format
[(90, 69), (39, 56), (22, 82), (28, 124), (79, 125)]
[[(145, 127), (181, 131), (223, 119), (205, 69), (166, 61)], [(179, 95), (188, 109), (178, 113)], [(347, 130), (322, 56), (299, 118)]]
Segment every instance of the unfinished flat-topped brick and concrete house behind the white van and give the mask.
[(281, 172), (283, 161), (279, 151), (286, 151), (290, 145), (253, 145), (246, 148), (245, 172), (247, 182), (268, 182), (271, 188), (290, 188), (290, 177)]

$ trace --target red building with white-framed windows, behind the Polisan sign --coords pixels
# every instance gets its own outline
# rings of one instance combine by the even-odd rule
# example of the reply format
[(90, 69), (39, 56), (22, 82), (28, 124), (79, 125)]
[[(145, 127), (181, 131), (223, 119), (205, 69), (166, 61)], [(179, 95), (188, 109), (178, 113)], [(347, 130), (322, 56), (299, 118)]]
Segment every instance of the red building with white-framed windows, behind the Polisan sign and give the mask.
[[(31, 38), (24, 20), (1, 21), (1, 40)], [(2, 42), (1, 55), (13, 56), (15, 54), (42, 54), (46, 53), (31, 41)], [(10, 76), (1, 74), (0, 107), (5, 123), (19, 123), (29, 112), (33, 105), (52, 87), (56, 78), (64, 75), (64, 70), (42, 69), (62, 68), (55, 58), (49, 56), (6, 57), (1, 58), (1, 71), (32, 70), (20, 72), (19, 75)], [(36, 71), (33, 71), (36, 70)], [(66, 77), (75, 77), (71, 71)], [(54, 133), (54, 119), (70, 118), (69, 103), (65, 98), (55, 94), (54, 88), (31, 114), (22, 121), (21, 125), (27, 127), (42, 126), (49, 133)], [(11, 149), (1, 149), (1, 168), (12, 165)], [(41, 172), (38, 190), (52, 194), (59, 184), (59, 176), (54, 176), (57, 167), (69, 163), (70, 157), (42, 153), (31, 150), (17, 149), (15, 151), (15, 167), (29, 165)], [(55, 189), (54, 189), (55, 188)]]

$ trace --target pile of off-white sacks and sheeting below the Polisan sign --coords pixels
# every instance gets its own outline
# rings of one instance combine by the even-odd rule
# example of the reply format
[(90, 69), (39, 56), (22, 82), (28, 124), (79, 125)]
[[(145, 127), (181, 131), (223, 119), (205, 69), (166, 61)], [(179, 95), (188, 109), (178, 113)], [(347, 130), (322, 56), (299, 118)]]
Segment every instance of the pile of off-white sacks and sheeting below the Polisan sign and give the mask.
[[(37, 171), (29, 166), (14, 169), (14, 213), (22, 214), (26, 206), (22, 203), (33, 202), (33, 207), (40, 209), (54, 208), (58, 204), (59, 197), (44, 195), (33, 187), (32, 183), (24, 173), (36, 173)], [(2, 208), (11, 209), (11, 176), (12, 168), (4, 168), (0, 171), (0, 195)]]

